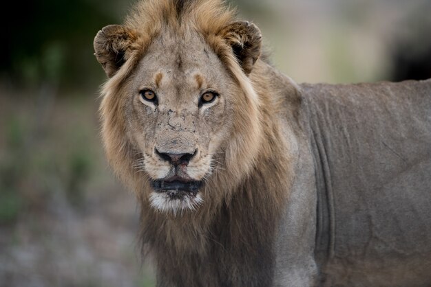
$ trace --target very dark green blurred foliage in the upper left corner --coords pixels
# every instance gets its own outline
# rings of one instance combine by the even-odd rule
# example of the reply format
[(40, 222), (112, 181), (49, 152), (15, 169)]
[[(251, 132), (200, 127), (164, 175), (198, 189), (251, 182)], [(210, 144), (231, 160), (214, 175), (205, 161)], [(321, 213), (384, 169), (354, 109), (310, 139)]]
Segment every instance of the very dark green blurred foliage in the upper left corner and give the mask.
[(10, 1), (12, 13), (1, 20), (8, 29), (2, 34), (0, 73), (19, 87), (82, 89), (100, 82), (93, 38), (104, 25), (118, 23), (115, 9), (97, 0)]

